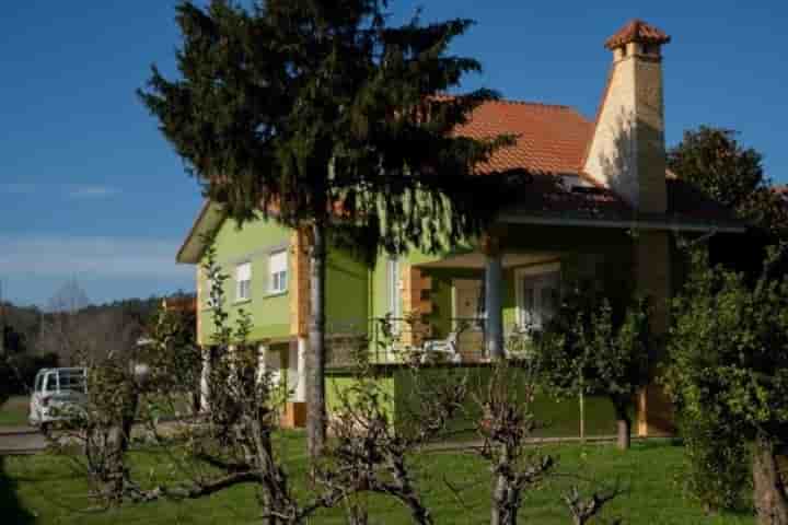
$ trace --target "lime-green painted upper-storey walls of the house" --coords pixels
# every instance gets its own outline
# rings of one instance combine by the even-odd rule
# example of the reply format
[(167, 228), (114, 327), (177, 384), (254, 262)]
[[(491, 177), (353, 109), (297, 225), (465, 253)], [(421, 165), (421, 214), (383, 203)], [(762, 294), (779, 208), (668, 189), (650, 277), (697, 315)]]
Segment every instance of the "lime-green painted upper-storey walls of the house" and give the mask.
[[(217, 261), (229, 276), (224, 282), (224, 292), (230, 323), (237, 319), (240, 310), (248, 312), (253, 324), (252, 340), (292, 337), (289, 291), (281, 294), (270, 294), (267, 291), (268, 255), (275, 249), (289, 247), (290, 237), (290, 229), (263, 220), (248, 222), (242, 229), (239, 229), (234, 221), (227, 220), (216, 234)], [(507, 231), (502, 245), (508, 252), (559, 254), (561, 282), (565, 287), (579, 282), (586, 282), (586, 285), (591, 283), (604, 290), (614, 301), (630, 294), (633, 250), (631, 238), (626, 232), (512, 226)], [(468, 246), (462, 246), (456, 252), (468, 249)], [(401, 268), (418, 266), (443, 257), (440, 254), (412, 250), (399, 257), (399, 264)], [(347, 249), (329, 247), (326, 268), (326, 322), (329, 334), (373, 335), (368, 331), (373, 326), (371, 319), (389, 313), (389, 255), (380, 254), (370, 266)], [(246, 260), (252, 262), (252, 299), (239, 303), (235, 302), (235, 265)], [(484, 271), (468, 268), (421, 268), (425, 275), (432, 279), (429, 292), (432, 312), (427, 315), (426, 320), (432, 327), (432, 337), (445, 338), (452, 329), (452, 280), (483, 279)], [(507, 329), (515, 324), (517, 318), (515, 270), (517, 268), (507, 268), (503, 272), (502, 306)], [(291, 287), (293, 283), (289, 284)], [(200, 305), (202, 340), (208, 341), (213, 327), (210, 311), (205, 304), (207, 285), (204, 279), (200, 279), (198, 285), (204, 291)]]

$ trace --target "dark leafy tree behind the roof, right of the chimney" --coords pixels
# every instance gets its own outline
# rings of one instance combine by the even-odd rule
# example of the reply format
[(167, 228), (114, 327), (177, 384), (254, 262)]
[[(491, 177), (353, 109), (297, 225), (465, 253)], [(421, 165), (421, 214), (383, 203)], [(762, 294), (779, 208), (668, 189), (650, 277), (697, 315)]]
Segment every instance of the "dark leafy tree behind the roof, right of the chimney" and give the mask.
[(668, 152), (668, 166), (737, 217), (773, 236), (788, 234), (788, 207), (764, 174), (763, 156), (730, 129), (700, 126)]

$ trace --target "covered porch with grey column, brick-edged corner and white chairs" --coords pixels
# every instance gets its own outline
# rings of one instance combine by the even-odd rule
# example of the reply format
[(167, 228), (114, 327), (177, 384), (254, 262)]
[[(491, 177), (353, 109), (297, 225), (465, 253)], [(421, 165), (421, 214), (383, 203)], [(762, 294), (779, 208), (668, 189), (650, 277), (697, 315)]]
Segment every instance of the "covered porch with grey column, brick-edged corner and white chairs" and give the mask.
[[(403, 269), (406, 343), (454, 362), (487, 361), (543, 328), (576, 287), (611, 301), (638, 290), (671, 294), (670, 237), (633, 237), (624, 229), (509, 225), (473, 249), (416, 260)], [(646, 246), (644, 246), (646, 243)], [(646, 257), (638, 265), (638, 249)]]

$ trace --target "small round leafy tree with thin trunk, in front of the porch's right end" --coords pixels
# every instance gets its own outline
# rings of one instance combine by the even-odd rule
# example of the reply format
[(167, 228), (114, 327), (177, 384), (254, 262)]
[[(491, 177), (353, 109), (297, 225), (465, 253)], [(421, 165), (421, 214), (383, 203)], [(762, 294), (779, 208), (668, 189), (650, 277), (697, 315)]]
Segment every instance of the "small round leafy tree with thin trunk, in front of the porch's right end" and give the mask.
[(545, 375), (559, 393), (610, 398), (618, 422), (618, 447), (626, 450), (634, 399), (648, 383), (650, 346), (646, 301), (616, 316), (606, 299), (578, 292), (565, 301), (537, 349)]

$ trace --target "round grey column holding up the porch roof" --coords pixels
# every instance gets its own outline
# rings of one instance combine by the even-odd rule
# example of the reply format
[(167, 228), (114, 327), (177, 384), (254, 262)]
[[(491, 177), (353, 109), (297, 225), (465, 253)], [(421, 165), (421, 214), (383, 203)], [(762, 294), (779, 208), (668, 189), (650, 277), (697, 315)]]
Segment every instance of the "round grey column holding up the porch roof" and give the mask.
[(485, 254), (485, 349), (490, 359), (505, 357), (501, 288), (503, 257), (498, 238), (488, 236), (483, 243)]

